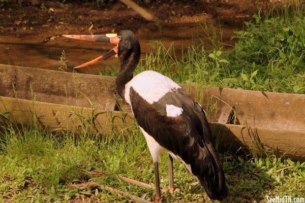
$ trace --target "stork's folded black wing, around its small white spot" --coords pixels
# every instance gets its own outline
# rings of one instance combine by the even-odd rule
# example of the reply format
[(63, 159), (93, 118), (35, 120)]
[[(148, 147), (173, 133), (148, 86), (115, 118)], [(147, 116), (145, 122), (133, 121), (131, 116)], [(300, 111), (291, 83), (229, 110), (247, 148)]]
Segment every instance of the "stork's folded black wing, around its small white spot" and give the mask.
[[(225, 176), (201, 106), (184, 90), (173, 89), (149, 104), (132, 87), (130, 101), (137, 123), (162, 147), (190, 164), (211, 199), (228, 195)], [(178, 117), (166, 116), (166, 105), (182, 108)]]

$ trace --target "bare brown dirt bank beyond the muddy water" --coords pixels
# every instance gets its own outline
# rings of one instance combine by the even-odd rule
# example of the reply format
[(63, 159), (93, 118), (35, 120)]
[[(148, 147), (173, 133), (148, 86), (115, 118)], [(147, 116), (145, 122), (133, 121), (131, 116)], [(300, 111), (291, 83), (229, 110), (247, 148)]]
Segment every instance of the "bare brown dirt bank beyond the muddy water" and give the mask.
[(264, 9), (265, 1), (139, 1), (138, 4), (154, 14), (157, 22), (143, 19), (126, 5), (113, 1), (98, 7), (90, 4), (81, 6), (76, 3), (64, 8), (52, 8), (41, 5), (24, 3), (2, 3), (0, 13), (0, 35), (25, 35), (48, 33), (80, 32), (88, 30), (93, 24), (92, 31), (112, 31), (133, 29), (136, 31), (147, 24), (161, 26), (194, 22), (201, 19), (202, 14), (219, 18), (225, 24), (235, 23), (243, 18), (249, 18), (257, 11), (257, 6)]

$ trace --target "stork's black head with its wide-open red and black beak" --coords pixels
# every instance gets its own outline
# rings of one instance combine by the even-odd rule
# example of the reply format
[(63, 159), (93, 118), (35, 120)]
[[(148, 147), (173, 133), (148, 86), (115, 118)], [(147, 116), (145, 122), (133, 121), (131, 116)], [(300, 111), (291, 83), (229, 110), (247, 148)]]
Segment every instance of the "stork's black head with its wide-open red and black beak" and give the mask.
[[(89, 62), (86, 62), (82, 65), (74, 67), (74, 69), (80, 69), (91, 64), (96, 64), (101, 61), (106, 60), (109, 57), (119, 57), (122, 63), (126, 65), (138, 64), (140, 59), (140, 43), (134, 33), (130, 30), (122, 30), (116, 33), (106, 34), (106, 35), (63, 35), (67, 38), (77, 39), (77, 40), (86, 40), (92, 42), (107, 42), (115, 44), (116, 46), (111, 49), (106, 54), (93, 59)], [(131, 61), (132, 63), (130, 63)]]

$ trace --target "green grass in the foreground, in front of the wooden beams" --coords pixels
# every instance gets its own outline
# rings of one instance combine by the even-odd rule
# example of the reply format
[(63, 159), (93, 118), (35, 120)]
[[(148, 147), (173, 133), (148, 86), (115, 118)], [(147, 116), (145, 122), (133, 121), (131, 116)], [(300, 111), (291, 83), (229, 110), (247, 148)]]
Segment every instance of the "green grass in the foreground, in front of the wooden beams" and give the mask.
[[(62, 202), (90, 198), (92, 202), (126, 202), (107, 191), (79, 190), (73, 183), (94, 180), (153, 200), (154, 190), (145, 190), (111, 176), (93, 178), (86, 171), (106, 170), (142, 182), (154, 184), (153, 161), (139, 130), (125, 134), (114, 132), (99, 138), (92, 133), (50, 133), (33, 124), (31, 128), (9, 125), (2, 128), (0, 154), (0, 201)], [(128, 138), (128, 139), (127, 139)], [(304, 196), (305, 163), (273, 156), (265, 159), (221, 154), (230, 195), (227, 202), (264, 201), (265, 196)], [(281, 172), (277, 170), (292, 165)], [(168, 186), (168, 160), (160, 164), (161, 187)], [(207, 201), (204, 190), (184, 164), (174, 161), (175, 193), (166, 193), (166, 201)], [(255, 192), (254, 192), (255, 191)]]

